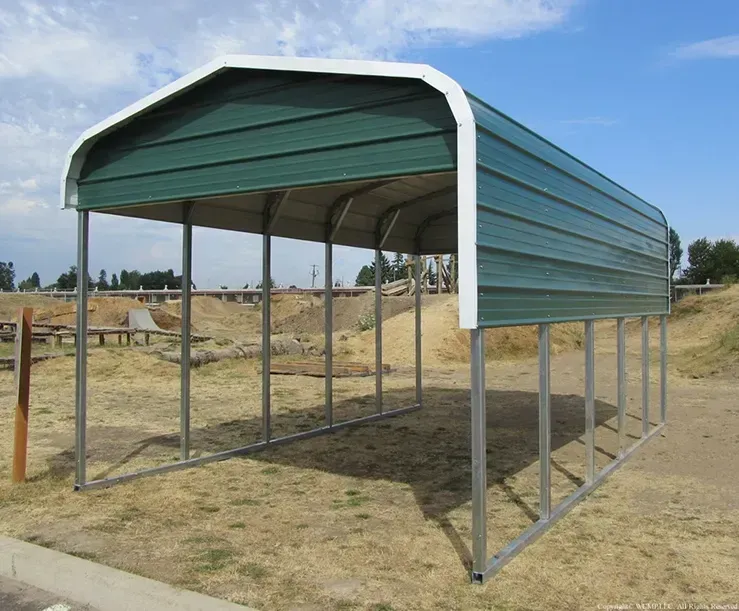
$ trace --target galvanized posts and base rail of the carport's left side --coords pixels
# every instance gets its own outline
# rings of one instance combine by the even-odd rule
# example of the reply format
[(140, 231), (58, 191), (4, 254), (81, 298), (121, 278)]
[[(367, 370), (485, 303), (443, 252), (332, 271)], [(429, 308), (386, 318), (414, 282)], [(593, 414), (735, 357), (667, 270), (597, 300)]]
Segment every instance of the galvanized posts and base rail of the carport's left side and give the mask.
[[(378, 181), (361, 190), (340, 198), (331, 208), (331, 214), (326, 227), (326, 251), (325, 251), (325, 347), (326, 347), (326, 401), (325, 401), (325, 424), (324, 426), (303, 431), (292, 435), (273, 438), (271, 428), (271, 388), (270, 388), (270, 365), (271, 365), (271, 263), (272, 243), (270, 232), (274, 228), (280, 208), (289, 196), (289, 192), (271, 193), (266, 198), (264, 207), (263, 242), (262, 242), (262, 439), (247, 446), (217, 452), (208, 456), (190, 458), (190, 330), (191, 330), (191, 286), (192, 286), (192, 212), (194, 204), (186, 203), (183, 206), (182, 217), (182, 348), (180, 366), (180, 460), (174, 463), (144, 469), (133, 473), (125, 473), (104, 479), (87, 481), (86, 473), (86, 432), (87, 432), (87, 297), (88, 290), (86, 282), (88, 271), (88, 247), (89, 247), (89, 212), (78, 212), (78, 238), (77, 238), (77, 353), (76, 353), (76, 418), (75, 418), (75, 490), (91, 490), (105, 488), (114, 484), (127, 482), (139, 477), (169, 473), (180, 469), (195, 467), (212, 462), (226, 460), (233, 456), (242, 456), (259, 452), (268, 447), (283, 445), (291, 441), (308, 439), (317, 435), (323, 435), (346, 427), (366, 424), (384, 418), (392, 418), (410, 413), (421, 407), (422, 401), (422, 354), (421, 354), (421, 295), (416, 291), (416, 316), (415, 316), (415, 348), (416, 348), (416, 403), (409, 407), (385, 411), (382, 403), (382, 290), (381, 274), (377, 274), (380, 286), (376, 285), (376, 413), (355, 418), (353, 420), (334, 423), (333, 421), (333, 238), (339, 231), (341, 223), (346, 216), (349, 206), (355, 197), (369, 193), (391, 181)], [(392, 227), (387, 229), (389, 234)], [(416, 286), (420, 282), (420, 257), (416, 255), (415, 280)], [(375, 252), (376, 269), (381, 270), (381, 251)]]

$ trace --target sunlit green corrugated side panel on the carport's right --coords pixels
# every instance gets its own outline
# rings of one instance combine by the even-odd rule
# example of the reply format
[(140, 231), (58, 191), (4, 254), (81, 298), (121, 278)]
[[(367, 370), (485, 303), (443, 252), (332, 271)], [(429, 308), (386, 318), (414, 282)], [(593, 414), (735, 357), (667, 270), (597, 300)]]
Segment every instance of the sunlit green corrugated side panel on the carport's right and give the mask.
[(666, 313), (656, 208), (469, 96), (481, 327)]

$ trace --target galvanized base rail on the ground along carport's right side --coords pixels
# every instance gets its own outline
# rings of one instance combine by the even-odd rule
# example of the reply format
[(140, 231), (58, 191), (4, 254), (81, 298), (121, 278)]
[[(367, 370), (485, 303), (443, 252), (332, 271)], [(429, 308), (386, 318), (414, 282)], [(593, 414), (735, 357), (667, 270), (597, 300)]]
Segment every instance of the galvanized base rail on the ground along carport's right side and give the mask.
[(575, 492), (573, 492), (570, 496), (568, 496), (564, 501), (562, 501), (559, 505), (557, 505), (557, 507), (552, 510), (548, 520), (539, 520), (538, 522), (532, 524), (529, 528), (527, 528), (523, 533), (516, 537), (516, 539), (511, 541), (488, 561), (488, 565), (485, 571), (479, 573), (473, 572), (472, 582), (479, 584), (485, 583), (488, 579), (498, 573), (498, 571), (500, 571), (500, 569), (502, 569), (506, 564), (513, 560), (513, 558), (515, 558), (519, 554), (519, 552), (521, 552), (521, 550), (523, 550), (527, 545), (533, 543), (544, 533), (546, 533), (557, 520), (565, 516), (575, 505), (577, 505), (586, 496), (593, 492), (593, 490), (600, 486), (611, 473), (621, 467), (621, 465), (623, 465), (631, 456), (633, 456), (633, 454), (642, 445), (644, 445), (652, 437), (658, 435), (663, 428), (663, 424), (658, 425), (649, 433), (647, 437), (641, 438), (633, 446), (631, 446), (631, 448), (626, 451), (623, 458), (618, 458), (614, 460), (600, 473), (598, 473), (591, 484), (586, 484), (578, 488)]

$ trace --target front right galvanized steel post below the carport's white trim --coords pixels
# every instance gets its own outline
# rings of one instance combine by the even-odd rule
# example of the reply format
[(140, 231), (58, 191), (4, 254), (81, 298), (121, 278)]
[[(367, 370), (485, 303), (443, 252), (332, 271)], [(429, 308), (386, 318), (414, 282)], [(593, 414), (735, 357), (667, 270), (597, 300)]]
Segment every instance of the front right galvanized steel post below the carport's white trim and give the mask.
[(487, 567), (487, 420), (485, 410), (485, 338), (470, 330), (472, 394), (472, 580), (481, 581)]

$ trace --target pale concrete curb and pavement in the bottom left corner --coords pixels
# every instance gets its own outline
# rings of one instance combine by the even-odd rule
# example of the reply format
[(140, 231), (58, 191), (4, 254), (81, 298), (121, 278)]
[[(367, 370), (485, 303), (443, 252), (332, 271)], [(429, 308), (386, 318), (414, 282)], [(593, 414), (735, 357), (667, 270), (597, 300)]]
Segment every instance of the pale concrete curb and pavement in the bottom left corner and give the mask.
[(254, 611), (1, 536), (0, 579), (2, 611)]

